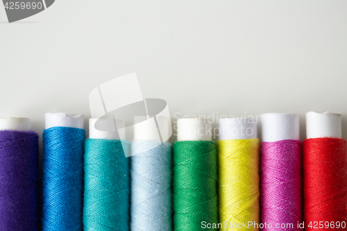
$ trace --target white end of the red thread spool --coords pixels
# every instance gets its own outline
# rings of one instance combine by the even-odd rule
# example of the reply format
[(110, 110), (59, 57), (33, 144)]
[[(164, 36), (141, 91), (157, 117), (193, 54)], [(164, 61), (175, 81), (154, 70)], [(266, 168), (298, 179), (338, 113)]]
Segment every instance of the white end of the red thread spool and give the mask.
[(342, 138), (341, 114), (337, 112), (307, 112), (306, 137), (312, 138)]

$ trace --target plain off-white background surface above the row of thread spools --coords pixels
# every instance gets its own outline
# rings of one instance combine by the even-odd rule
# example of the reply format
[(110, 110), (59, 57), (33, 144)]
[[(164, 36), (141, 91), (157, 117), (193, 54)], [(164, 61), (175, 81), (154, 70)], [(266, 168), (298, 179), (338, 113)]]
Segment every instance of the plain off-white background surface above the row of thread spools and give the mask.
[[(0, 10), (0, 18), (6, 21)], [(0, 23), (0, 116), (90, 117), (89, 93), (137, 73), (174, 113), (344, 114), (347, 1), (71, 1)], [(87, 125), (87, 120), (86, 120)]]

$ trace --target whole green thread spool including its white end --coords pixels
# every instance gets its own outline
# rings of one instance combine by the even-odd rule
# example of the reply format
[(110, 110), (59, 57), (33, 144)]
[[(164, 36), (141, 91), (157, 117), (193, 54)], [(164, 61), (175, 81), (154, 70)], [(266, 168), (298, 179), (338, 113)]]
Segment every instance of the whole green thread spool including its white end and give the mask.
[(207, 119), (178, 119), (174, 151), (174, 230), (217, 230), (217, 147)]

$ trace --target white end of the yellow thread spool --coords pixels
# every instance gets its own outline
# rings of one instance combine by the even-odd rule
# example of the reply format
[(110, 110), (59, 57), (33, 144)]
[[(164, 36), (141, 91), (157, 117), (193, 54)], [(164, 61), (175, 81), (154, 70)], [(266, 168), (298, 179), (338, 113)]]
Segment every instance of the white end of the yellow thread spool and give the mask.
[(255, 139), (257, 122), (251, 118), (219, 119), (219, 139)]

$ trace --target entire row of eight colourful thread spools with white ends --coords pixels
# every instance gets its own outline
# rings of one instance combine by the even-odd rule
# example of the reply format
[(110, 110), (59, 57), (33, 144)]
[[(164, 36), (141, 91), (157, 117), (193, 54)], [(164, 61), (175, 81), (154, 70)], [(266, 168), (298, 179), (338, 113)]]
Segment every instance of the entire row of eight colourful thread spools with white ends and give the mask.
[[(230, 226), (252, 221), (258, 224), (273, 223), (273, 227), (267, 227), (266, 230), (278, 230), (275, 223), (294, 225), (293, 228), (283, 230), (301, 230), (297, 223), (303, 220), (346, 222), (346, 142), (341, 139), (339, 114), (307, 113), (303, 196), (299, 118), (296, 114), (263, 114), (261, 161), (254, 121), (221, 119), (220, 140), (216, 145), (207, 132), (211, 126), (208, 121), (179, 119), (178, 142), (173, 146), (172, 186), (169, 144), (163, 144), (156, 149), (157, 152), (153, 152), (150, 142), (135, 142), (133, 151), (145, 147), (148, 152), (131, 157), (130, 166), (133, 168), (130, 167), (130, 182), (129, 158), (125, 157), (128, 150), (115, 139), (117, 137), (112, 137), (112, 132), (94, 130), (94, 123), (95, 120), (91, 119), (90, 139), (85, 144), (83, 154), (83, 117), (46, 115), (42, 230), (82, 230), (83, 225), (84, 230), (128, 230), (129, 222), (131, 230), (202, 230), (203, 221), (206, 225), (217, 224), (220, 229), (225, 228), (225, 222)], [(235, 132), (247, 128), (253, 132)], [(7, 161), (8, 169), (20, 172), (27, 168), (24, 170), (30, 172), (30, 181), (19, 182), (14, 179), (17, 176), (13, 172), (4, 169), (3, 176), (17, 182), (17, 185), (11, 190), (1, 190), (3, 203), (0, 205), (3, 206), (3, 212), (0, 215), (0, 228), (37, 230), (37, 215), (33, 212), (37, 209), (38, 200), (37, 194), (35, 196), (38, 182), (37, 153), (35, 157), (37, 135), (33, 132), (26, 134), (29, 140), (28, 137), (15, 134), (16, 130), (30, 130), (28, 119), (2, 120), (0, 130), (12, 130), (5, 135), (15, 137), (1, 139), (1, 143), (6, 146), (1, 150), (4, 157), (13, 152), (11, 147), (14, 145), (9, 140), (13, 142), (18, 139), (19, 144), (26, 144), (20, 150), (15, 147), (15, 151), (32, 153), (31, 160), (25, 161), (31, 164), (30, 170), (28, 165), (10, 166), (12, 162), (2, 159)], [(74, 144), (61, 144), (63, 139), (74, 140)], [(105, 156), (108, 151), (117, 151), (117, 155)], [(160, 158), (160, 154), (165, 153), (166, 158)], [(73, 158), (69, 155), (73, 155)], [(322, 173), (315, 169), (324, 164), (327, 166), (323, 169), (323, 175), (329, 178), (322, 178)], [(153, 171), (155, 166), (160, 166), (160, 169)], [(131, 189), (130, 184), (133, 186)], [(22, 200), (13, 196), (15, 189), (24, 188), (21, 191)], [(304, 212), (301, 207), (302, 197)], [(8, 203), (9, 200), (13, 201)], [(322, 203), (327, 207), (322, 207)], [(17, 209), (12, 209), (10, 214), (8, 211), (11, 208), (8, 206)], [(171, 219), (171, 206), (174, 207), (174, 219)], [(209, 230), (217, 230), (213, 225), (210, 227), (205, 226)], [(308, 226), (305, 228), (310, 230)], [(253, 225), (241, 229), (259, 230), (261, 227)], [(344, 227), (340, 225), (339, 229)]]

